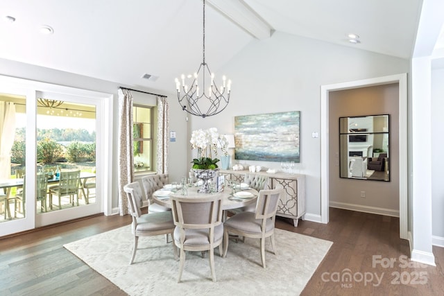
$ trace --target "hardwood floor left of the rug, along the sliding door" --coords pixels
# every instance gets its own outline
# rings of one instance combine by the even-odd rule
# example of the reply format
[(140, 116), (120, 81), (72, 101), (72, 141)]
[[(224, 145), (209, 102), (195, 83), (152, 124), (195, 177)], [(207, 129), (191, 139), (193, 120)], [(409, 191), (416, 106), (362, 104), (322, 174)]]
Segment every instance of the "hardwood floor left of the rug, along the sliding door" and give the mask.
[(0, 240), (0, 295), (126, 295), (63, 245), (130, 223), (97, 216)]

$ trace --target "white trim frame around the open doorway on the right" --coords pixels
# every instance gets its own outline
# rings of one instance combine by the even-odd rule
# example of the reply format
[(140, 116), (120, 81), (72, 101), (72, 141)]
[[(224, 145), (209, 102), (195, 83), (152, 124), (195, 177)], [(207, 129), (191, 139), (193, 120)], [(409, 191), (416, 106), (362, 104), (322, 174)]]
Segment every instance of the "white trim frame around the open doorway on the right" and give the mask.
[(321, 86), (321, 222), (329, 221), (329, 93), (343, 89), (398, 83), (399, 87), (399, 171), (400, 171), (400, 238), (408, 239), (407, 209), (407, 73)]

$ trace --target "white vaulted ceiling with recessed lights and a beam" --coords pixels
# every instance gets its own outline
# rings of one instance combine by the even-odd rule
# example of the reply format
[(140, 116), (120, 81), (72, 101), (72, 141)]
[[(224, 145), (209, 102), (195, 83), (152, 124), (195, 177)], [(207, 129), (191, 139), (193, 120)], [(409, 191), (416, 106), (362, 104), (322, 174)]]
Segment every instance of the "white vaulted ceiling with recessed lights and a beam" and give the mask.
[[(421, 3), (207, 0), (205, 59), (217, 71), (244, 46), (264, 38), (257, 34), (257, 39), (244, 28), (260, 26), (264, 32), (267, 24), (271, 32), (410, 58)], [(253, 10), (252, 15), (259, 15), (265, 25), (251, 20), (247, 10)], [(160, 92), (174, 92), (174, 78), (196, 71), (202, 61), (200, 0), (2, 0), (0, 12), (0, 58), (8, 60)], [(16, 21), (3, 21), (7, 15)], [(54, 33), (42, 35), (42, 24), (51, 26)], [(350, 44), (347, 33), (358, 34), (361, 43)], [(144, 73), (158, 78), (142, 79)]]

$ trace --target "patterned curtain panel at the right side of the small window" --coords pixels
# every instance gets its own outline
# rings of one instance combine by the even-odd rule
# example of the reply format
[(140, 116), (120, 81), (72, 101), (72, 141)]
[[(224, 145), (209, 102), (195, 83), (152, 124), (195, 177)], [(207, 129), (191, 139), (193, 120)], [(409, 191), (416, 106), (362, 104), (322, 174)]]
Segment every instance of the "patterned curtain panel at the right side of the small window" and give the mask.
[(157, 96), (157, 173), (168, 173), (169, 106), (167, 98)]

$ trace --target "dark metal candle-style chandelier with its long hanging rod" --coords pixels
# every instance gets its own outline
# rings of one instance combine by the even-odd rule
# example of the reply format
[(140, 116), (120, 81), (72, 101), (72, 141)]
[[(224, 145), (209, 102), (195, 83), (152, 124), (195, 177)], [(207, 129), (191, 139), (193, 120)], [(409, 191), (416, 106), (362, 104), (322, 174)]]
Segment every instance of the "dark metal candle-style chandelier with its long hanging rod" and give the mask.
[[(203, 62), (194, 75), (184, 74), (176, 78), (178, 101), (182, 110), (191, 115), (205, 118), (222, 112), (230, 102), (231, 80), (222, 77), (222, 85), (218, 88), (214, 83), (214, 73), (205, 62), (205, 0), (203, 0)], [(186, 80), (187, 79), (187, 80)], [(181, 85), (182, 82), (182, 85)], [(189, 85), (187, 82), (191, 82)], [(210, 86), (206, 87), (205, 83)], [(182, 92), (182, 94), (180, 93)]]

